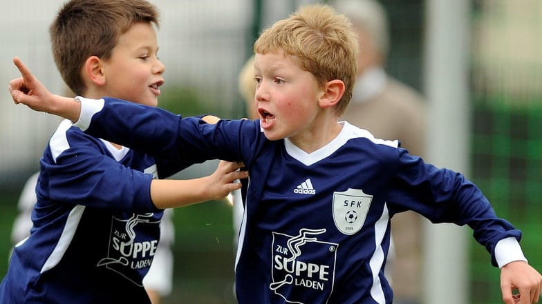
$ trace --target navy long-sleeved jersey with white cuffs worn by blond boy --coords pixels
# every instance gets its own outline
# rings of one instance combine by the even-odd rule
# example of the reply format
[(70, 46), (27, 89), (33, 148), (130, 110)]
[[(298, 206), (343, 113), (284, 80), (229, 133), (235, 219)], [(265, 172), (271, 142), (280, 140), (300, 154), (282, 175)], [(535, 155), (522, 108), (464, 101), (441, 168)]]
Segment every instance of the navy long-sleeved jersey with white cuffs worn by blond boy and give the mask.
[(333, 141), (307, 154), (288, 139), (266, 139), (257, 120), (208, 125), (156, 108), (100, 101), (83, 101), (76, 125), (88, 134), (167, 159), (246, 165), (250, 178), (236, 257), (241, 304), (391, 303), (384, 277), (390, 219), (405, 210), (433, 223), (469, 225), (494, 265), (525, 259), (521, 232), (499, 219), (465, 176), (347, 122)]

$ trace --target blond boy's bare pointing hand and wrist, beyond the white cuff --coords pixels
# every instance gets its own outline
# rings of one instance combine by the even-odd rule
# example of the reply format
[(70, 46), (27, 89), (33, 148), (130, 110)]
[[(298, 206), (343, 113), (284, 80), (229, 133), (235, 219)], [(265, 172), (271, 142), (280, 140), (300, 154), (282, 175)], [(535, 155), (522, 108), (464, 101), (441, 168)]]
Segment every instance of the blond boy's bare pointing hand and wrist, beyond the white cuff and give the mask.
[(77, 121), (81, 113), (81, 104), (73, 98), (52, 94), (30, 72), (21, 59), (15, 57), (13, 63), (21, 72), (21, 77), (10, 81), (10, 93), (15, 104), (22, 103), (28, 108), (62, 116)]

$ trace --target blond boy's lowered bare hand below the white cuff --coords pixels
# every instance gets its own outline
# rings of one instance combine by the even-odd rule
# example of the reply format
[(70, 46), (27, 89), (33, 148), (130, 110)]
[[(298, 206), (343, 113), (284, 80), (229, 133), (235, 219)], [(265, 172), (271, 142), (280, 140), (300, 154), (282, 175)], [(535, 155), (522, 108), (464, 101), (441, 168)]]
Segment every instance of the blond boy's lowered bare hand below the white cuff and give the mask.
[[(519, 296), (512, 296), (517, 290)], [(506, 304), (538, 303), (542, 290), (542, 276), (525, 261), (515, 261), (501, 268), (501, 292)]]

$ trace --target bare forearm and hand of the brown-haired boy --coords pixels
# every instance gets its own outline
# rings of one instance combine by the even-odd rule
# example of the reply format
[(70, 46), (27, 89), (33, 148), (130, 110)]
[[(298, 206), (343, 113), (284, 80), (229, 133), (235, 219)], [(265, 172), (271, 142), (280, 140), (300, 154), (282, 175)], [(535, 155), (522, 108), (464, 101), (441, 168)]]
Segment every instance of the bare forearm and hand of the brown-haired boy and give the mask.
[(241, 183), (236, 180), (248, 176), (246, 171), (237, 171), (241, 167), (241, 163), (221, 161), (213, 174), (200, 179), (153, 179), (151, 199), (159, 209), (223, 199), (230, 192), (241, 188)]

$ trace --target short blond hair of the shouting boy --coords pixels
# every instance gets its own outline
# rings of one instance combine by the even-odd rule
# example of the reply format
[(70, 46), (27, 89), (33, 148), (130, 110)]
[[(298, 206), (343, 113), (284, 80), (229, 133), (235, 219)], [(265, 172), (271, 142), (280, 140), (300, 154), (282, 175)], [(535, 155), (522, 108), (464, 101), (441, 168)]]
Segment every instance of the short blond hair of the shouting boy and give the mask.
[(312, 73), (321, 85), (333, 79), (344, 82), (345, 92), (337, 103), (341, 115), (350, 99), (357, 75), (357, 38), (351, 22), (330, 6), (302, 6), (264, 30), (254, 43), (254, 52), (283, 50), (295, 57), (299, 67)]

